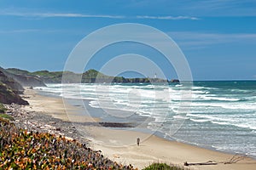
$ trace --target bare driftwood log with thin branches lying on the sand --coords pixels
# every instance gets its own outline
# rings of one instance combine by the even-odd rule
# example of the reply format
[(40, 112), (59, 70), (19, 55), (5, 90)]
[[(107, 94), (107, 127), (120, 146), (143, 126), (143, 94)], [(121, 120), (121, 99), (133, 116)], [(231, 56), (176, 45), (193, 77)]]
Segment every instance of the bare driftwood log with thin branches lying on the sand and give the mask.
[(247, 156), (236, 154), (232, 156), (229, 161), (206, 161), (206, 162), (197, 162), (197, 163), (188, 163), (187, 161), (184, 162), (184, 166), (195, 166), (195, 165), (218, 165), (218, 164), (232, 164), (236, 163), (237, 161), (244, 160)]

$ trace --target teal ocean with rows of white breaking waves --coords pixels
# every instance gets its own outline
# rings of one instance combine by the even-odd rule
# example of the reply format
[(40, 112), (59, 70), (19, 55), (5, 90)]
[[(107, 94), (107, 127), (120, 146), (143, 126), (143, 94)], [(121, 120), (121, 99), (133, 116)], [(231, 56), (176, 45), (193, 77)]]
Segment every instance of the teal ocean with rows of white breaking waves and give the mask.
[(106, 114), (90, 114), (104, 121), (148, 117), (132, 120), (162, 138), (256, 158), (255, 81), (201, 81), (192, 87), (183, 83), (47, 84), (37, 89), (41, 94), (87, 101), (85, 107), (105, 110)]

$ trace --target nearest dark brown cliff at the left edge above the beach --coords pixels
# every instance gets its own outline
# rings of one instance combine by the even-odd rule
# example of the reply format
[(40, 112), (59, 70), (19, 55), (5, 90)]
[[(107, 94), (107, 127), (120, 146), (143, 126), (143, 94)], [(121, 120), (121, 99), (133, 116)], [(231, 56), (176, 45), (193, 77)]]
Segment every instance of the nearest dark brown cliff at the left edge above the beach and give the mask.
[(14, 79), (7, 77), (3, 71), (0, 71), (0, 103), (28, 105), (28, 102), (21, 99), (19, 95), (23, 90), (19, 82), (15, 82)]

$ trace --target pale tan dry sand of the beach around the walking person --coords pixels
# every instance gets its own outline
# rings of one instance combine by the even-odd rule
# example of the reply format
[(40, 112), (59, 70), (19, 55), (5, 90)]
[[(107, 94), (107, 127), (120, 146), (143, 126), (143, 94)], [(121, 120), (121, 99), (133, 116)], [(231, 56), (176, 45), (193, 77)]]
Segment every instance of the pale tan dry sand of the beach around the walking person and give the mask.
[[(27, 111), (47, 114), (63, 121), (69, 120), (65, 108), (69, 111), (77, 110), (73, 105), (63, 104), (61, 98), (38, 95), (34, 90), (26, 90), (23, 97), (30, 103), (30, 105), (25, 106)], [(100, 121), (88, 116), (80, 116), (76, 120), (79, 122)], [(229, 161), (233, 155), (161, 139), (154, 135), (148, 135), (148, 133), (95, 126), (84, 126), (84, 131), (90, 133), (90, 147), (92, 149), (102, 150), (102, 154), (111, 160), (122, 164), (132, 164), (139, 169), (152, 162), (166, 162), (183, 166), (184, 161), (189, 163), (218, 162), (217, 165), (189, 166), (190, 169), (256, 169), (256, 160), (252, 158), (246, 157), (233, 164), (224, 164), (223, 162)], [(136, 144), (138, 137), (141, 139), (140, 146)]]

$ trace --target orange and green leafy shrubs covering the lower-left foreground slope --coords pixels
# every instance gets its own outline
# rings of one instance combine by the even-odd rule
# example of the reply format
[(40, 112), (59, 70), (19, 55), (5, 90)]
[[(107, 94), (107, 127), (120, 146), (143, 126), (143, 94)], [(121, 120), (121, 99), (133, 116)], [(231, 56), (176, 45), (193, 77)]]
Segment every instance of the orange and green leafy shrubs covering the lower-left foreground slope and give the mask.
[(49, 133), (27, 132), (0, 117), (0, 169), (134, 169), (86, 144)]

